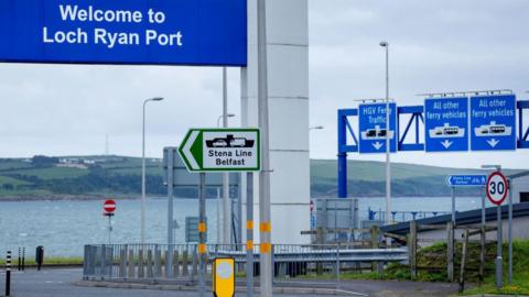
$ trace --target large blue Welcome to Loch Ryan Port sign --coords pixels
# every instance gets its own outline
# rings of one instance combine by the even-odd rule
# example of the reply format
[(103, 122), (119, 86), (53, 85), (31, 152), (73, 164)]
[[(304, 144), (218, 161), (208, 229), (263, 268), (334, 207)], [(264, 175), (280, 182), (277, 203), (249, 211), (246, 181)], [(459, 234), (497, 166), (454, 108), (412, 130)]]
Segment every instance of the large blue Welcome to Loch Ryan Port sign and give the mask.
[(0, 62), (247, 64), (246, 0), (1, 0)]

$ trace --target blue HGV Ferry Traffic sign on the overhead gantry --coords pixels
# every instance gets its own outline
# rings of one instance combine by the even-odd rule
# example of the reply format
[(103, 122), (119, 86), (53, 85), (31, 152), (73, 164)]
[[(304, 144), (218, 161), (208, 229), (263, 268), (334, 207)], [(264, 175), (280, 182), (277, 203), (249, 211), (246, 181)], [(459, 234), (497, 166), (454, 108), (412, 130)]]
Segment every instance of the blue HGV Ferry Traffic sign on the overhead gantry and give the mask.
[(385, 153), (386, 136), (389, 138), (391, 152), (397, 151), (397, 105), (389, 105), (389, 131), (386, 129), (386, 103), (360, 105), (359, 117), (359, 152)]

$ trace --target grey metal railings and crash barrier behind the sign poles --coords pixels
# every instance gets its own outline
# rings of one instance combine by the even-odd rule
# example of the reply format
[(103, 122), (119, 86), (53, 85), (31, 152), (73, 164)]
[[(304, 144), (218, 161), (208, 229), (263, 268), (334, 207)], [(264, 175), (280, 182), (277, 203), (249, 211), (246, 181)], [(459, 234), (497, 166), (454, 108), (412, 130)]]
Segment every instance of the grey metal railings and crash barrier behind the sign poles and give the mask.
[[(246, 283), (246, 245), (208, 244), (206, 282), (210, 282), (212, 260), (234, 257), (238, 284)], [(338, 286), (341, 274), (370, 267), (373, 262), (406, 262), (407, 249), (343, 249), (339, 245), (274, 244), (272, 249), (274, 283), (303, 282), (325, 275), (330, 286)], [(259, 246), (253, 249), (253, 277), (259, 275)], [(196, 285), (198, 254), (195, 244), (98, 244), (85, 245), (85, 280), (164, 282)]]

